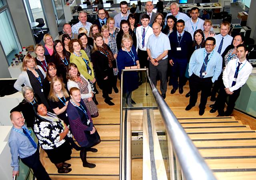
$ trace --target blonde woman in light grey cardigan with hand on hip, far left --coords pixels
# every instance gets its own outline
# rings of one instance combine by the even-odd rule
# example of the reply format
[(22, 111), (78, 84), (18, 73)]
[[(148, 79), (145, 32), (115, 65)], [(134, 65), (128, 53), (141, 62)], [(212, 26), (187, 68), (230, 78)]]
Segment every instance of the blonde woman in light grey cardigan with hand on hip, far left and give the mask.
[(23, 71), (20, 73), (17, 81), (14, 83), (14, 88), (18, 91), (22, 90), (22, 85), (31, 87), (34, 93), (40, 97), (42, 103), (48, 108), (48, 102), (44, 97), (43, 80), (46, 77), (42, 67), (36, 64), (36, 59), (31, 55), (26, 55), (22, 63)]

